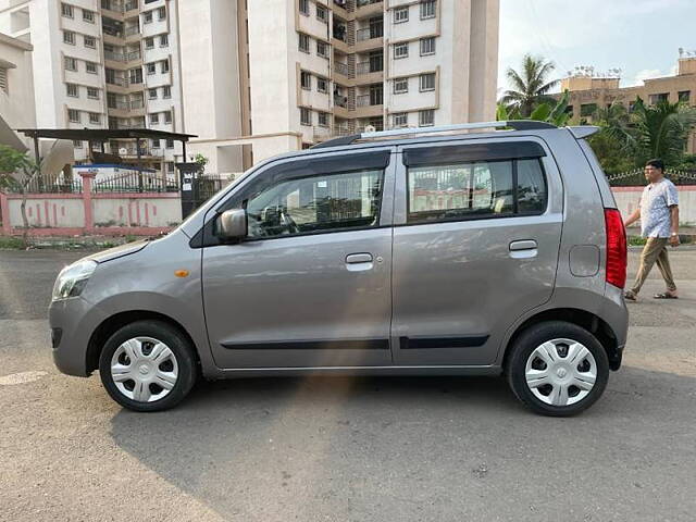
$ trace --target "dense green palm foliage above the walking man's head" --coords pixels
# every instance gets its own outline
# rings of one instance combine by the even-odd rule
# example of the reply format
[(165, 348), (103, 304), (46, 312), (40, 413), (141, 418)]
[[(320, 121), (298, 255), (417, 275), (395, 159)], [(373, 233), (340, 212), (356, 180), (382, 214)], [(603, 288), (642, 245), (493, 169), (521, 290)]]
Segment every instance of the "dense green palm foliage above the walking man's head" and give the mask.
[(688, 133), (696, 125), (693, 108), (669, 101), (646, 105), (637, 98), (631, 116), (637, 164), (644, 164), (650, 158), (661, 158), (671, 165), (680, 162)]

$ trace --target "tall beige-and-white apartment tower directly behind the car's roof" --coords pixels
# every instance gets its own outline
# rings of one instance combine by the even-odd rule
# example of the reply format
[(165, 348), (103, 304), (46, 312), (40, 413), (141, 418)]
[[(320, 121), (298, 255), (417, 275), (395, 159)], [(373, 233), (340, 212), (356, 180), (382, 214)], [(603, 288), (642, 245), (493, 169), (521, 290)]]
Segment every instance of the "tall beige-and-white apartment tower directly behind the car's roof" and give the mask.
[(362, 130), (495, 117), (498, 0), (179, 8), (192, 22), (181, 27), (186, 130), (213, 171)]

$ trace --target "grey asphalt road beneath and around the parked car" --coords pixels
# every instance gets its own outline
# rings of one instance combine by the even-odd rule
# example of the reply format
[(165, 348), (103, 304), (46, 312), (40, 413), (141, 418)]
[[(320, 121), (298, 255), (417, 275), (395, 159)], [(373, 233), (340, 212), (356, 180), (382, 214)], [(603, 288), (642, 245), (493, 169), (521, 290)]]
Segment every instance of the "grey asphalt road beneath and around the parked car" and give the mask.
[(648, 281), (624, 366), (573, 419), (442, 377), (207, 383), (132, 413), (52, 365), (51, 285), (80, 256), (0, 251), (0, 520), (696, 518), (696, 250), (673, 251), (682, 299)]

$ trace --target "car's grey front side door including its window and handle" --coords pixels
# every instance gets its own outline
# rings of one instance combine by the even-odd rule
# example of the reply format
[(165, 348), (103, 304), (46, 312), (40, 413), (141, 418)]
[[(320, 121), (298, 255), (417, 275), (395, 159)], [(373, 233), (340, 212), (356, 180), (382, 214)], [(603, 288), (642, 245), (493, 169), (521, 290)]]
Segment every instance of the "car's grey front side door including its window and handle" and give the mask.
[(301, 159), (233, 196), (232, 206), (247, 210), (249, 237), (203, 252), (220, 368), (391, 363), (391, 199), (384, 194), (394, 177), (385, 179), (388, 150), (368, 156)]

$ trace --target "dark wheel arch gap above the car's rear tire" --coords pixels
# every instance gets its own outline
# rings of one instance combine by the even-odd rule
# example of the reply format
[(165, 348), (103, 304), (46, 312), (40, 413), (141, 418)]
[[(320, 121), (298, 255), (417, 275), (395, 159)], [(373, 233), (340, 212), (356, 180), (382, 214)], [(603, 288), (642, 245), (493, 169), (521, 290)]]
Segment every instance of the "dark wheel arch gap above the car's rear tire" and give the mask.
[(535, 324), (550, 321), (563, 321), (586, 330), (593, 334), (604, 347), (607, 352), (607, 358), (609, 359), (609, 368), (611, 370), (618, 370), (621, 365), (621, 353), (619, 352), (617, 335), (606, 321), (586, 310), (576, 308), (554, 308), (550, 310), (544, 310), (531, 318), (527, 318), (522, 324), (514, 328), (513, 334), (508, 338), (505, 345), (502, 368), (507, 368), (511, 352), (510, 348), (514, 346), (515, 340), (526, 330)]

